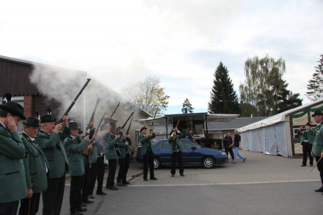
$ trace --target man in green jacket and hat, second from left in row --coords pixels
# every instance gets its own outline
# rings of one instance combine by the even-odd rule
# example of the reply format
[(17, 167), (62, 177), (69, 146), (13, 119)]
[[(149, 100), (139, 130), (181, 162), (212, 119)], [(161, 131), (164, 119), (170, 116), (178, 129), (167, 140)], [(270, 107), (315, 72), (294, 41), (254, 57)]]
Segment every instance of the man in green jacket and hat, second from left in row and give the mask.
[(19, 215), (36, 214), (39, 208), (40, 192), (47, 189), (47, 172), (49, 164), (44, 152), (35, 141), (39, 120), (28, 117), (24, 124), (24, 131), (20, 135), (25, 146), (25, 176), (28, 188), (27, 198), (20, 200)]

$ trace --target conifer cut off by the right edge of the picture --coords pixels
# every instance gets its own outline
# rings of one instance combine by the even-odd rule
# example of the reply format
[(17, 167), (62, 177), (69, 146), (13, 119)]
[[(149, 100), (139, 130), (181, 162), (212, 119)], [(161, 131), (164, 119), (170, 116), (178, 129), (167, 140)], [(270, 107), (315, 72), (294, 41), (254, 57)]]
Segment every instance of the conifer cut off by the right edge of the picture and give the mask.
[(323, 55), (320, 55), (320, 59), (312, 79), (308, 81), (306, 95), (312, 101), (323, 97)]

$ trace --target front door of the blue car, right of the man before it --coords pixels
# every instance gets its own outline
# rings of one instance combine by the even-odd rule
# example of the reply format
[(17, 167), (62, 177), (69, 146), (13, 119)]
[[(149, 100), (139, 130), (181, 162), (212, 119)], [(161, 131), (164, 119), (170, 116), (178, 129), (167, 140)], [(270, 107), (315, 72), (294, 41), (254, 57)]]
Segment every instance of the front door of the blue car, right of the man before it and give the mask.
[(182, 145), (184, 147), (183, 152), (183, 163), (188, 164), (200, 164), (201, 163), (201, 153), (199, 147), (191, 143), (190, 140), (182, 139)]

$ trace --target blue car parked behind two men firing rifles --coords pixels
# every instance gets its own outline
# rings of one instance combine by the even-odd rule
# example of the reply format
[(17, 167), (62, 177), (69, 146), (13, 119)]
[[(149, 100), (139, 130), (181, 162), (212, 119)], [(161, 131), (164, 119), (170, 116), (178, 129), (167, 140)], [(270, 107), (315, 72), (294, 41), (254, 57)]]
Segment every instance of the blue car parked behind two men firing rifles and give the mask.
[[(214, 165), (227, 163), (226, 152), (214, 148), (201, 147), (197, 142), (189, 139), (181, 139), (184, 147), (183, 165), (202, 165), (206, 169), (213, 168)], [(171, 165), (170, 144), (167, 139), (157, 140), (153, 143), (154, 152), (154, 169), (159, 169), (161, 166)], [(136, 160), (138, 163), (143, 163), (141, 154), (141, 146), (137, 149)]]

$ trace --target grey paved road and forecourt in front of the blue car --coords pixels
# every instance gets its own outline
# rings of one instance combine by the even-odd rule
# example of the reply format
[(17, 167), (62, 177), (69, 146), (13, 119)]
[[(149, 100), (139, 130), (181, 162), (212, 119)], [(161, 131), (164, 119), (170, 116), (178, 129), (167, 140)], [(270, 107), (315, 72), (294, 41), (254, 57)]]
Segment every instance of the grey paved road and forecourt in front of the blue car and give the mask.
[[(206, 170), (185, 168), (185, 177), (170, 177), (170, 168), (155, 171), (157, 181), (132, 178), (128, 187), (96, 196), (84, 214), (322, 214), (318, 171), (300, 167), (301, 159), (242, 151), (245, 163)], [(129, 176), (142, 165), (131, 164)], [(69, 214), (69, 185), (62, 214)], [(320, 209), (320, 210), (319, 210)]]

